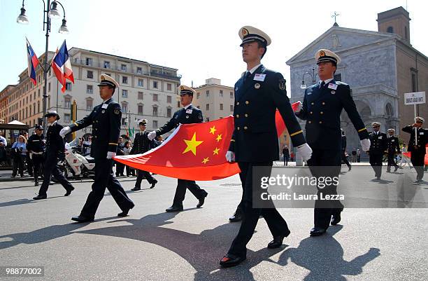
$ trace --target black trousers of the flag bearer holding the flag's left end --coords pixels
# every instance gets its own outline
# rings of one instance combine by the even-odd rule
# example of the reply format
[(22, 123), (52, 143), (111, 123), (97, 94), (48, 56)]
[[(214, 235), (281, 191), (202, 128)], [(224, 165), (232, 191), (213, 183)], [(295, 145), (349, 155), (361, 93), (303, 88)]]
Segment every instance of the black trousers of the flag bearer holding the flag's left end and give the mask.
[(92, 191), (87, 196), (86, 203), (80, 212), (81, 215), (90, 218), (95, 217), (99, 203), (104, 198), (106, 188), (113, 196), (120, 210), (124, 211), (134, 207), (134, 203), (129, 199), (120, 182), (113, 177), (112, 167), (112, 159), (95, 159), (95, 179), (92, 184)]

